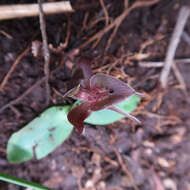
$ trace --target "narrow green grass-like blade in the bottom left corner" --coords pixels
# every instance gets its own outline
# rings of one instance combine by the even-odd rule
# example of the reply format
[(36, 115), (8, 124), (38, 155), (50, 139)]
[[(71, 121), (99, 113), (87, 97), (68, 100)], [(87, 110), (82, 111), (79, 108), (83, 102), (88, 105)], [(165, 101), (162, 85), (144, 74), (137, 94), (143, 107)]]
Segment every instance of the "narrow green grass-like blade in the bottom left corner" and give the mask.
[(37, 183), (26, 181), (24, 179), (20, 179), (20, 178), (17, 178), (17, 177), (8, 175), (8, 174), (4, 174), (4, 173), (0, 173), (0, 180), (6, 181), (6, 182), (9, 182), (9, 183), (13, 183), (13, 184), (16, 184), (16, 185), (20, 185), (20, 186), (23, 186), (23, 187), (32, 188), (32, 189), (35, 189), (35, 190), (51, 190), (48, 187), (41, 186), (41, 185), (39, 185)]

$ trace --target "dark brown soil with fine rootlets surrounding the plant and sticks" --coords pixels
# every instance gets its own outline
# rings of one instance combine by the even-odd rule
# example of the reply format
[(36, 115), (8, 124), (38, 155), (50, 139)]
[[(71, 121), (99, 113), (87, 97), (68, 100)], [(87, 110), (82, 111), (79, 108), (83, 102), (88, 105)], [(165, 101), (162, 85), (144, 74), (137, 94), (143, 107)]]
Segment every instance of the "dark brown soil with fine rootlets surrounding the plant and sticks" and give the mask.
[[(104, 1), (110, 21), (123, 12), (123, 2)], [(11, 3), (21, 4), (23, 1)], [(0, 4), (7, 4), (7, 1), (1, 0)], [(132, 1), (129, 1), (129, 6), (131, 4)], [(64, 43), (70, 22), (69, 43), (65, 49), (51, 56), (51, 71), (59, 69), (50, 78), (50, 104), (45, 104), (46, 89), (42, 83), (0, 113), (0, 172), (55, 190), (189, 190), (190, 65), (177, 65), (184, 78), (186, 92), (179, 88), (179, 81), (173, 72), (169, 76), (168, 88), (163, 90), (159, 84), (162, 68), (142, 67), (139, 59), (139, 56), (146, 56), (143, 61), (164, 61), (178, 12), (181, 6), (189, 4), (189, 0), (160, 0), (153, 6), (135, 9), (121, 23), (108, 51), (105, 51), (105, 47), (112, 31), (107, 32), (96, 47), (89, 44), (80, 49), (77, 55), (94, 59), (94, 73), (103, 72), (120, 78), (146, 94), (134, 112), (142, 121), (141, 125), (134, 125), (127, 119), (108, 126), (86, 125), (85, 135), (80, 136), (74, 131), (61, 146), (42, 160), (10, 164), (6, 159), (6, 145), (14, 132), (47, 107), (73, 102), (69, 98), (63, 100), (57, 93), (64, 94), (74, 85), (71, 70), (67, 66), (72, 64), (68, 57), (92, 35), (105, 28), (102, 21), (90, 26), (92, 21), (104, 17), (99, 1), (73, 0), (74, 13), (47, 16), (48, 43), (54, 47)], [(190, 35), (190, 19), (185, 32)], [(41, 41), (39, 18), (1, 21), (1, 82), (16, 58), (35, 40)], [(148, 45), (142, 49), (145, 43)], [(189, 53), (190, 46), (182, 38), (176, 58), (188, 58)], [(77, 56), (72, 57), (75, 60)], [(1, 90), (0, 109), (23, 95), (43, 76), (43, 58), (34, 57), (29, 51)], [(0, 189), (24, 188), (0, 182)]]

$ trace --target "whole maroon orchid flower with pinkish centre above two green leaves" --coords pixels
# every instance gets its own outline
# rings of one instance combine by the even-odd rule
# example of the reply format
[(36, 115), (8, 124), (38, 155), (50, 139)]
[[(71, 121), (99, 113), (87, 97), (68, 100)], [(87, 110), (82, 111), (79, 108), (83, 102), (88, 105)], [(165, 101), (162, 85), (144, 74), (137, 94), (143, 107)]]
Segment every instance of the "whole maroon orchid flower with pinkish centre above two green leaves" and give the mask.
[(68, 113), (69, 122), (81, 134), (84, 129), (84, 120), (94, 111), (110, 109), (132, 119), (136, 123), (140, 121), (134, 116), (120, 110), (115, 105), (126, 100), (130, 96), (141, 93), (136, 92), (125, 82), (110, 75), (98, 73), (93, 75), (89, 60), (81, 58), (78, 66), (82, 69), (84, 79), (75, 88), (66, 93), (66, 96), (82, 103), (70, 110)]

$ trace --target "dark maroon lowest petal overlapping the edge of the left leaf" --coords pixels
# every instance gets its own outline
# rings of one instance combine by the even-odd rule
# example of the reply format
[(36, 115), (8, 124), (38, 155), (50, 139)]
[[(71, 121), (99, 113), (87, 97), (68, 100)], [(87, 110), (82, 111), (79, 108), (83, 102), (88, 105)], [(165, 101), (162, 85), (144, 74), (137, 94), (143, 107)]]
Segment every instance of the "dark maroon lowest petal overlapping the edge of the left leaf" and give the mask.
[(91, 114), (90, 103), (84, 102), (70, 110), (67, 115), (69, 122), (77, 129), (79, 134), (83, 132), (84, 120)]

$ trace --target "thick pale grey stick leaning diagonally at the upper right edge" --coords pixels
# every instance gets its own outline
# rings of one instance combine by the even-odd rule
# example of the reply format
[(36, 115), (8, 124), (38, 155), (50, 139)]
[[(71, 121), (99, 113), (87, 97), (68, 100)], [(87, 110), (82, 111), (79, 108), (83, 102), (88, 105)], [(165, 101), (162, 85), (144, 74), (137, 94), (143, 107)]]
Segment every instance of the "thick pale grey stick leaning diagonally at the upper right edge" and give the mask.
[(166, 53), (165, 65), (160, 75), (160, 83), (163, 88), (166, 88), (167, 86), (168, 75), (172, 67), (175, 52), (179, 44), (183, 29), (189, 17), (189, 14), (190, 14), (190, 9), (187, 6), (184, 6), (180, 9), (177, 23), (176, 23), (176, 26), (172, 34), (170, 44)]

